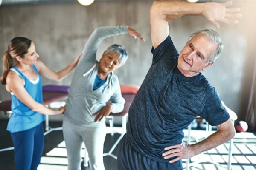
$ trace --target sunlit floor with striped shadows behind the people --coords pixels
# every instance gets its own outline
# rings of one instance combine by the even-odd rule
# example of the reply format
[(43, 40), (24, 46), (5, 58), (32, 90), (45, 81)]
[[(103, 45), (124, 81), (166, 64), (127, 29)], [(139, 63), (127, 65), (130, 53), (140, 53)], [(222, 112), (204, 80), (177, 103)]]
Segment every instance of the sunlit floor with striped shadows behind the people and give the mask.
[[(52, 128), (61, 127), (61, 124), (61, 122), (50, 122)], [(6, 147), (12, 147), (12, 140), (9, 132), (6, 131), (6, 126), (7, 120), (0, 120), (0, 150)], [(120, 127), (117, 127), (116, 130), (120, 130)], [(186, 135), (187, 131), (184, 130), (184, 133)], [(192, 136), (196, 136), (198, 139), (203, 139), (206, 135), (204, 130), (192, 130)], [(110, 150), (111, 144), (113, 144), (118, 137), (118, 133), (113, 136), (107, 134), (104, 152)], [(186, 138), (184, 140), (186, 140)], [(119, 146), (117, 145), (116, 149), (113, 151), (114, 155), (116, 155), (118, 148)], [(226, 170), (228, 148), (228, 143), (225, 143), (207, 151), (203, 155), (200, 155), (200, 157), (195, 156), (191, 158), (191, 162), (202, 162), (189, 167), (189, 170)], [(84, 153), (81, 154), (81, 157), (83, 156)], [(232, 170), (256, 170), (255, 133), (236, 133), (231, 160)], [(213, 161), (222, 166), (212, 164)], [(111, 156), (104, 157), (104, 164), (105, 170), (117, 170), (116, 160)], [(83, 162), (81, 162), (81, 167), (82, 170), (89, 170), (89, 167), (83, 167)], [(183, 160), (183, 167), (186, 169), (186, 160)], [(0, 170), (15, 170), (13, 150), (0, 152)], [(38, 170), (67, 170), (67, 152), (61, 130), (52, 131), (45, 136), (44, 153)]]

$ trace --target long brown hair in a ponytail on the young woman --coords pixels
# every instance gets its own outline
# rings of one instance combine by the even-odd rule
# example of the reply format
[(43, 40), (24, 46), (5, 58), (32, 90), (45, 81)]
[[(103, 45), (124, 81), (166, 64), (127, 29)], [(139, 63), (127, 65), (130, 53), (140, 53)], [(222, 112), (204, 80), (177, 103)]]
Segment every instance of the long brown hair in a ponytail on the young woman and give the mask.
[(8, 45), (8, 50), (3, 54), (3, 74), (0, 78), (2, 85), (6, 85), (7, 74), (17, 62), (15, 57), (24, 57), (31, 45), (31, 40), (25, 37), (15, 37)]

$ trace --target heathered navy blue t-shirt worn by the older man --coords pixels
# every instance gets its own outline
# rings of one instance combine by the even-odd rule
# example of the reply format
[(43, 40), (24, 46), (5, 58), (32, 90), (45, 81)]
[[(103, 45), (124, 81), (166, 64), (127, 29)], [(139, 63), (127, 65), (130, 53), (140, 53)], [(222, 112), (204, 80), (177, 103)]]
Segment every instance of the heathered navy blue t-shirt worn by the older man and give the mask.
[(168, 36), (156, 49), (149, 71), (131, 103), (126, 138), (137, 152), (154, 161), (164, 148), (180, 144), (183, 129), (201, 116), (215, 126), (230, 116), (215, 88), (198, 73), (185, 77), (177, 68), (178, 52)]

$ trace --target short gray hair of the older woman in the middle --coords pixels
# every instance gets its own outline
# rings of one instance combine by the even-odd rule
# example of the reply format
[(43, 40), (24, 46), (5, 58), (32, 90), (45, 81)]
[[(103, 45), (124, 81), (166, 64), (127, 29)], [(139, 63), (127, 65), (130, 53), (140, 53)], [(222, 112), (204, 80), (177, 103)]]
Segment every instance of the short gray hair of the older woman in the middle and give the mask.
[(113, 45), (109, 46), (108, 49), (106, 50), (106, 52), (107, 53), (116, 52), (119, 54), (119, 66), (118, 67), (121, 67), (122, 65), (124, 65), (126, 60), (128, 59), (127, 51), (124, 48), (122, 48), (122, 46), (119, 44), (113, 44)]

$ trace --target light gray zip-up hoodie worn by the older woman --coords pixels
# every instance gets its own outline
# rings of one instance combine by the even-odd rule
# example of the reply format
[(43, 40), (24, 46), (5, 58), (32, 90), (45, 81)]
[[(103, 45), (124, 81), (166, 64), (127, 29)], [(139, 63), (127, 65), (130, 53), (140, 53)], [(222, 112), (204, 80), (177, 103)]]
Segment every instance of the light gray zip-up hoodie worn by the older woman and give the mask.
[(109, 73), (106, 82), (93, 91), (93, 84), (98, 72), (99, 62), (96, 61), (96, 52), (99, 43), (113, 35), (127, 34), (128, 26), (108, 26), (96, 28), (84, 46), (82, 56), (76, 66), (70, 91), (67, 99), (65, 118), (78, 126), (97, 126), (93, 114), (101, 110), (106, 102), (113, 105), (112, 113), (119, 113), (124, 107), (118, 77)]

